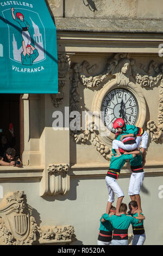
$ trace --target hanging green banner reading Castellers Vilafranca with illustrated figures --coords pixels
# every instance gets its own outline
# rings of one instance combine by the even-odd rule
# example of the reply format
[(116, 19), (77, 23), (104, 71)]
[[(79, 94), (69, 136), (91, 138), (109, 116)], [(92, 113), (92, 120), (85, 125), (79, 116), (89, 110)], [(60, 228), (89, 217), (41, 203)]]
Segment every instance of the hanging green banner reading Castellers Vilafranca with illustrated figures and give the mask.
[(45, 0), (0, 0), (0, 93), (58, 93), (57, 31)]

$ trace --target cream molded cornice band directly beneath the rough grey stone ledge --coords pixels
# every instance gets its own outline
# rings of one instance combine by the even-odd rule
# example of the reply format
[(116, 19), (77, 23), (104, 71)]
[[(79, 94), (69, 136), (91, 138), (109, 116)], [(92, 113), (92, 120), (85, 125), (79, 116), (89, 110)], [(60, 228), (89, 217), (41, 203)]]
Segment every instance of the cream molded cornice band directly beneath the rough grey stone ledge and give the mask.
[[(64, 18), (65, 19), (65, 18)], [(103, 20), (104, 22), (104, 20)], [(104, 23), (103, 23), (104, 25)], [(103, 27), (102, 25), (102, 27)], [(84, 25), (85, 26), (85, 25)], [(109, 28), (109, 27), (108, 27)], [(155, 30), (156, 31), (156, 30)], [(114, 54), (117, 53), (140, 53), (157, 54), (158, 46), (162, 44), (161, 34), (148, 33), (98, 33), (80, 31), (58, 31), (58, 51), (69, 53), (96, 53)]]

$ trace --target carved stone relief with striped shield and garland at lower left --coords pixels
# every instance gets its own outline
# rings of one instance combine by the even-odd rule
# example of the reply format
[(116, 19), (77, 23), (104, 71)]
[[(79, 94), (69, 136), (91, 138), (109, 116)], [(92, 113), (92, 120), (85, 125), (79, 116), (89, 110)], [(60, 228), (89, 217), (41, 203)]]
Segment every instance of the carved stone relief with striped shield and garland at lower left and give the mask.
[(61, 227), (38, 227), (32, 216), (33, 208), (26, 202), (24, 191), (8, 193), (0, 204), (0, 244), (35, 245), (75, 240), (71, 225)]

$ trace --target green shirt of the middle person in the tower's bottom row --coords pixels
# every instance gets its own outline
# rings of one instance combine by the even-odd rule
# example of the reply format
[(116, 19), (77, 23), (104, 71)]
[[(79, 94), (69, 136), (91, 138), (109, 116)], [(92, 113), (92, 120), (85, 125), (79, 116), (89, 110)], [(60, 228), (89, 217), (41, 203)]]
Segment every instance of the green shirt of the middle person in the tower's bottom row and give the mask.
[(111, 215), (111, 217), (108, 214), (104, 214), (103, 218), (106, 221), (110, 221), (112, 227), (116, 229), (128, 229), (130, 224), (139, 223), (139, 220), (136, 218), (126, 216), (125, 214), (121, 214), (121, 216)]

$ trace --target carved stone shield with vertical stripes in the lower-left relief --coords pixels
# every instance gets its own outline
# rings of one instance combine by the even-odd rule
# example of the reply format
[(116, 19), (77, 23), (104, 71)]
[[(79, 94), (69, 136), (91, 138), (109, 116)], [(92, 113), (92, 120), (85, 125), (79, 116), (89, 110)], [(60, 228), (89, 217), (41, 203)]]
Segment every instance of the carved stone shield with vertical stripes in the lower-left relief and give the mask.
[(15, 231), (18, 235), (24, 235), (27, 232), (28, 220), (25, 214), (14, 216)]

